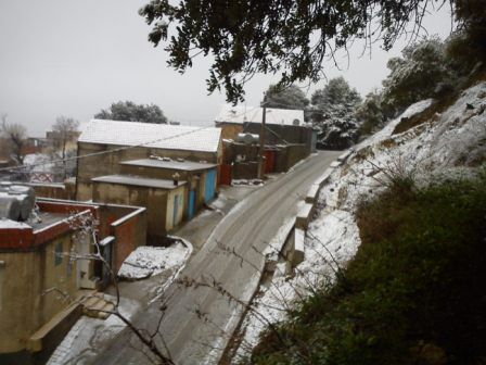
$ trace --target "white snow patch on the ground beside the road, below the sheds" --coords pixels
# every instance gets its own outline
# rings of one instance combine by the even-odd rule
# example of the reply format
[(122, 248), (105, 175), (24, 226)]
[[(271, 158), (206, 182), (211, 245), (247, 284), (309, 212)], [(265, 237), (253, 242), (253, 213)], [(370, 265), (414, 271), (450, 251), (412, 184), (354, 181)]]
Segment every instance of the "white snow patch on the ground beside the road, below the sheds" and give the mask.
[(139, 247), (125, 260), (118, 277), (137, 280), (165, 270), (175, 273), (186, 263), (190, 254), (190, 248), (181, 242), (168, 248)]

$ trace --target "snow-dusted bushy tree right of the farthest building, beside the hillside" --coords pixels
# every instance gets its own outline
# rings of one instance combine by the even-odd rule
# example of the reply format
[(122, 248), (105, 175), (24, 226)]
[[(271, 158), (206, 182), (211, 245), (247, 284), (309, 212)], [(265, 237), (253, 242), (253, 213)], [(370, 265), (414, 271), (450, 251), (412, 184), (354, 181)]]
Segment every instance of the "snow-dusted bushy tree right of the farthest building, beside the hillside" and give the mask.
[(343, 150), (356, 142), (358, 123), (355, 110), (361, 97), (343, 77), (329, 80), (314, 92), (309, 109), (312, 124), (320, 128), (318, 144), (324, 149)]

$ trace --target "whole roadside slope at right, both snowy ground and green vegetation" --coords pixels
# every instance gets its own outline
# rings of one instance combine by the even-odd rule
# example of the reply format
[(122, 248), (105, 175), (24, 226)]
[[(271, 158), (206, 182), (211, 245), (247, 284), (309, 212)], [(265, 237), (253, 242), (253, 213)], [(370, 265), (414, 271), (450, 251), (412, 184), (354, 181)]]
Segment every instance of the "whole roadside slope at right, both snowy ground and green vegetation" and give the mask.
[(395, 99), (398, 116), (333, 172), (306, 261), (260, 293), (271, 325), (234, 362), (485, 362), (486, 71), (470, 64), (430, 99)]

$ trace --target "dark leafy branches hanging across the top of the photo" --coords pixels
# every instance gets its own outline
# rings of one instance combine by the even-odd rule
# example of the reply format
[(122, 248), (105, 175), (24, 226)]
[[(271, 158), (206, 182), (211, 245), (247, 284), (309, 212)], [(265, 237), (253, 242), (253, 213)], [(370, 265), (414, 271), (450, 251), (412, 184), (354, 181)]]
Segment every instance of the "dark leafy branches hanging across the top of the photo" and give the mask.
[(236, 103), (256, 73), (280, 73), (280, 86), (317, 81), (322, 61), (336, 50), (355, 39), (389, 49), (410, 22), (417, 33), (423, 15), (445, 1), (465, 9), (473, 0), (151, 0), (139, 13), (152, 25), (149, 41), (168, 40), (172, 68), (183, 73), (196, 55), (212, 54), (208, 91), (223, 87)]

